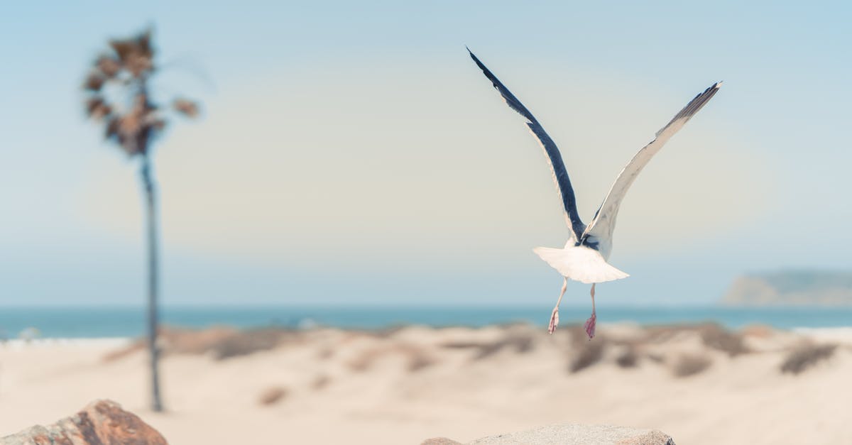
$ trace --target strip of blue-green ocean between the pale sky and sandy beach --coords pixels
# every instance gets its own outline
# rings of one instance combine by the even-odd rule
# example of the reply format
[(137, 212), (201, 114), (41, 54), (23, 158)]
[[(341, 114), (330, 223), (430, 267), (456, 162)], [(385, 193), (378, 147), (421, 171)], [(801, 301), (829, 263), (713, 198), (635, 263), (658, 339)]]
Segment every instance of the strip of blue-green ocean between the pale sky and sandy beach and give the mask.
[[(527, 322), (544, 327), (550, 306), (166, 306), (164, 325), (210, 327), (343, 327), (380, 329), (417, 324), (432, 327), (481, 327)], [(563, 306), (561, 324), (582, 323), (589, 307)], [(780, 329), (852, 327), (852, 307), (728, 308), (720, 306), (599, 306), (598, 323), (633, 322), (659, 325), (713, 321), (728, 328), (763, 324)], [(37, 331), (33, 331), (34, 328)], [(145, 332), (145, 309), (134, 307), (0, 308), (0, 339), (18, 338), (30, 329), (40, 338), (128, 338)]]

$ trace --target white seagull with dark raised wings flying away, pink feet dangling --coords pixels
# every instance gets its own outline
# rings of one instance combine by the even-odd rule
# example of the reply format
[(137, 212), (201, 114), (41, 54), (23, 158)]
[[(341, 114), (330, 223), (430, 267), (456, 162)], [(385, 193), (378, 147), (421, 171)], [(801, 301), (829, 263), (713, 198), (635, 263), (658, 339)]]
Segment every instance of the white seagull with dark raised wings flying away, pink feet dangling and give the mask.
[(562, 289), (559, 293), (559, 299), (556, 300), (556, 306), (550, 313), (548, 332), (552, 334), (559, 325), (559, 304), (562, 301), (562, 296), (565, 295), (568, 280), (576, 280), (591, 285), (591, 316), (585, 321), (583, 327), (589, 339), (594, 338), (597, 321), (595, 314), (595, 285), (606, 281), (621, 280), (630, 276), (607, 263), (609, 254), (613, 251), (613, 228), (615, 228), (615, 217), (618, 216), (621, 200), (625, 198), (627, 189), (636, 180), (636, 176), (639, 175), (642, 168), (648, 165), (648, 161), (653, 158), (653, 155), (659, 152), (659, 149), (665, 145), (665, 142), (668, 142), (671, 136), (674, 136), (695, 113), (698, 113), (701, 107), (704, 107), (713, 95), (716, 95), (719, 87), (722, 86), (722, 82), (712, 84), (703, 93), (696, 95), (692, 101), (689, 101), (686, 107), (683, 107), (680, 113), (677, 113), (668, 124), (665, 124), (665, 127), (657, 131), (652, 142), (642, 147), (639, 153), (636, 153), (633, 159), (630, 159), (630, 163), (615, 178), (613, 187), (609, 189), (609, 193), (603, 199), (603, 203), (596, 211), (595, 217), (592, 217), (591, 223), (586, 225), (580, 220), (579, 213), (577, 212), (577, 200), (574, 198), (571, 180), (568, 179), (568, 172), (565, 169), (565, 163), (562, 162), (562, 155), (559, 153), (556, 143), (550, 139), (550, 136), (547, 135), (541, 124), (538, 124), (538, 120), (533, 117), (533, 113), (530, 113), (527, 107), (524, 107), (521, 101), (482, 64), (470, 49), (468, 49), (468, 53), (485, 74), (485, 77), (491, 81), (494, 88), (503, 96), (506, 104), (527, 119), (527, 127), (529, 127), (533, 136), (536, 136), (538, 142), (544, 147), (544, 153), (547, 155), (550, 170), (556, 181), (556, 188), (559, 189), (562, 198), (566, 223), (568, 228), (571, 229), (571, 234), (568, 237), (567, 243), (565, 243), (565, 247), (561, 249), (536, 247), (533, 249), (538, 254), (538, 257), (541, 257), (546, 263), (550, 264), (550, 267), (558, 270), (562, 275)]

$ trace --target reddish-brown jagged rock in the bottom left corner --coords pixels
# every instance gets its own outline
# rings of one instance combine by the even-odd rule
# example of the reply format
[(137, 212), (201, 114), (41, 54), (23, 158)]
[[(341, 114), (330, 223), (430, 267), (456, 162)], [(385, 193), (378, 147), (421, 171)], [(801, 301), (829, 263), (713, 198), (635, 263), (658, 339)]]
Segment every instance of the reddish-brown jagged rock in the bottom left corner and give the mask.
[(53, 425), (36, 425), (2, 445), (168, 445), (163, 436), (116, 402), (99, 400)]

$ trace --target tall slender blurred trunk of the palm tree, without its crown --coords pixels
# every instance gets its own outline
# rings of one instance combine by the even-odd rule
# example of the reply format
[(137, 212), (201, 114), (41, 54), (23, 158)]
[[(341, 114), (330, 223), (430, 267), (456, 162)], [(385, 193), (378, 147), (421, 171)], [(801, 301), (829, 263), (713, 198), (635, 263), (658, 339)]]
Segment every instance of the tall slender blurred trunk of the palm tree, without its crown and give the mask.
[(163, 402), (159, 390), (159, 349), (157, 346), (158, 333), (158, 242), (157, 242), (157, 205), (154, 182), (151, 177), (151, 165), (147, 153), (142, 155), (141, 165), (142, 184), (145, 187), (145, 204), (147, 211), (147, 241), (148, 241), (148, 353), (151, 365), (151, 409), (163, 411)]

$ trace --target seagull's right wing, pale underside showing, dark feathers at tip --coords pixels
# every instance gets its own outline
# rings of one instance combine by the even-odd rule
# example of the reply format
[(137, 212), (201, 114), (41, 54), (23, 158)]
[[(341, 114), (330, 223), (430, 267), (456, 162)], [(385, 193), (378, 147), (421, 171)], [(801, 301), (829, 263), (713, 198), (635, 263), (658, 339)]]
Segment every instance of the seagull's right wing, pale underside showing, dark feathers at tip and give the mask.
[(717, 82), (707, 90), (704, 90), (703, 93), (696, 95), (692, 101), (689, 101), (686, 107), (683, 107), (680, 113), (677, 113), (671, 119), (671, 122), (657, 131), (656, 139), (645, 147), (642, 147), (639, 153), (636, 153), (633, 159), (630, 159), (630, 163), (625, 166), (624, 170), (621, 170), (619, 177), (615, 178), (615, 182), (613, 183), (613, 187), (609, 189), (607, 198), (603, 200), (603, 204), (597, 210), (595, 218), (592, 219), (589, 226), (585, 229), (583, 237), (580, 240), (583, 240), (588, 235), (605, 239), (612, 237), (613, 228), (615, 228), (615, 217), (619, 213), (621, 199), (624, 199), (627, 189), (630, 188), (630, 184), (636, 180), (636, 176), (639, 175), (642, 168), (648, 165), (648, 161), (653, 158), (654, 154), (659, 152), (659, 149), (665, 145), (665, 142), (668, 142), (671, 136), (674, 136), (677, 130), (680, 130), (683, 124), (687, 123), (689, 118), (692, 118), (695, 113), (698, 113), (701, 107), (704, 107), (713, 95), (716, 95), (720, 86), (722, 86), (722, 82)]

